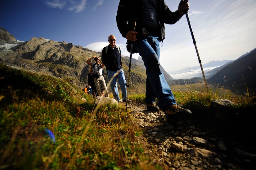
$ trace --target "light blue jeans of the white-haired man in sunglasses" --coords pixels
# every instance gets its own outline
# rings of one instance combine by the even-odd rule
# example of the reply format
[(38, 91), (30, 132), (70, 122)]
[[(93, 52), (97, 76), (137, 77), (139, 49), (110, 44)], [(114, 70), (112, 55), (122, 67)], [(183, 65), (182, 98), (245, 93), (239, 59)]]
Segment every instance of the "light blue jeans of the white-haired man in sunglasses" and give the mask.
[[(107, 70), (107, 75), (109, 80), (114, 76), (115, 73), (117, 73), (119, 70), (116, 71), (112, 71), (112, 70)], [(110, 87), (112, 89), (113, 92), (113, 96), (114, 98), (120, 102), (120, 97), (119, 97), (119, 92), (118, 92), (118, 87), (117, 87), (117, 79), (118, 79), (118, 83), (121, 87), (121, 92), (122, 92), (122, 98), (123, 100), (126, 100), (126, 96), (127, 96), (127, 90), (126, 90), (126, 80), (125, 80), (125, 76), (124, 76), (124, 70), (121, 68), (120, 72), (117, 76), (115, 76), (113, 78), (113, 80), (110, 83)]]

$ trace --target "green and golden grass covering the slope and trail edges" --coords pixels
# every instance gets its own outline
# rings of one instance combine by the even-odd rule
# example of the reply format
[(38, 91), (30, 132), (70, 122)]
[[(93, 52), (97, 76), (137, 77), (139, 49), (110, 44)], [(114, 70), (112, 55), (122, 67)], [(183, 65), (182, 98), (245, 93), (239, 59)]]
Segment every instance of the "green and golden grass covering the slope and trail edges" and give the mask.
[[(0, 169), (161, 169), (145, 154), (142, 130), (124, 105), (97, 107), (68, 82), (0, 65)], [(177, 103), (199, 111), (223, 98), (200, 86), (172, 87)], [(144, 103), (143, 88), (128, 94)], [(249, 96), (225, 98), (236, 108), (255, 109)]]

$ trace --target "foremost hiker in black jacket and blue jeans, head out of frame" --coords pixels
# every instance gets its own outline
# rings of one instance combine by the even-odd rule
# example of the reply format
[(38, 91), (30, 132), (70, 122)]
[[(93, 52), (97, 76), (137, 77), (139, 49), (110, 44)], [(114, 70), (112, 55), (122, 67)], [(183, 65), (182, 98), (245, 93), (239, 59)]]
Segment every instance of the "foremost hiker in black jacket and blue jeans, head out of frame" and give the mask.
[(187, 0), (181, 0), (175, 12), (169, 10), (164, 0), (120, 0), (116, 15), (120, 33), (128, 40), (128, 45), (133, 44), (133, 51), (140, 54), (146, 66), (147, 110), (163, 110), (171, 123), (186, 119), (192, 113), (179, 107), (175, 101), (159, 63), (159, 44), (165, 38), (164, 24), (175, 24), (187, 10)]

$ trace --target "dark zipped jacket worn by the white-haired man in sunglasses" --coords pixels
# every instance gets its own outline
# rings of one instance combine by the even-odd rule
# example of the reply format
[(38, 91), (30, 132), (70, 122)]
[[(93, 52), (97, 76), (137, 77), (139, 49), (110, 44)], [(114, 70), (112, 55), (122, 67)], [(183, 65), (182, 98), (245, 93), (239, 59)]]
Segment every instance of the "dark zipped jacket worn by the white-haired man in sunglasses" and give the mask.
[[(106, 53), (106, 48), (108, 48)], [(119, 49), (120, 50), (120, 49)], [(114, 47), (113, 48), (108, 45), (103, 48), (101, 53), (101, 61), (106, 66), (106, 70), (117, 71), (122, 68), (122, 61), (121, 61), (121, 50)]]

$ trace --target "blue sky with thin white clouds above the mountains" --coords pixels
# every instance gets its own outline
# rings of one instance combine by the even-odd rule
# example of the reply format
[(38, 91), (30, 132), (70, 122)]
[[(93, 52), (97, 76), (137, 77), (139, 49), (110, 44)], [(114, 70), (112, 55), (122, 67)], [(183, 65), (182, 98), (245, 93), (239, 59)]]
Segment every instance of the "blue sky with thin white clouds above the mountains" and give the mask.
[[(176, 11), (179, 0), (165, 0)], [(234, 60), (256, 48), (255, 0), (190, 0), (191, 27), (202, 64)], [(100, 52), (108, 36), (116, 36), (122, 55), (126, 39), (116, 26), (119, 0), (2, 0), (0, 27), (17, 40), (43, 37), (65, 41)], [(166, 39), (160, 44), (160, 63), (171, 74), (199, 66), (184, 15), (176, 24), (165, 25)], [(137, 59), (139, 54), (132, 54)], [(172, 74), (171, 74), (172, 75)], [(175, 76), (175, 75), (172, 75)]]

